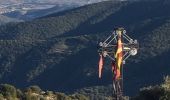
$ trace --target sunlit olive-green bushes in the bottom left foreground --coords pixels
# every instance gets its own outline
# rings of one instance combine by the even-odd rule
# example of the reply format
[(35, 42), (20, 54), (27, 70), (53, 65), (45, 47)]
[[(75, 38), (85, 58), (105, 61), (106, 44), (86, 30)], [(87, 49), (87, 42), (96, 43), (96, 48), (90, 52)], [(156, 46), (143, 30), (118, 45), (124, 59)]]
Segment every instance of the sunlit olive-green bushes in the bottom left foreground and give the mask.
[(89, 100), (82, 94), (66, 95), (64, 93), (42, 91), (38, 86), (30, 86), (25, 90), (16, 89), (9, 84), (0, 85), (0, 100)]

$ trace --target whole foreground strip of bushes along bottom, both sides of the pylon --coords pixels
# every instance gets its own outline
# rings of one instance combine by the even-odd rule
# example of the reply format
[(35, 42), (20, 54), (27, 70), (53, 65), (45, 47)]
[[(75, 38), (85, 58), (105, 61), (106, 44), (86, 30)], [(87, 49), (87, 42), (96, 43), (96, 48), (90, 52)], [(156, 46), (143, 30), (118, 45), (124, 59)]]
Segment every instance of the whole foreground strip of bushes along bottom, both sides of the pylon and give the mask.
[[(38, 86), (30, 86), (20, 90), (9, 84), (0, 85), (0, 100), (113, 100), (112, 87), (84, 88), (74, 94), (64, 94), (53, 91), (43, 91)], [(110, 96), (108, 96), (110, 95)], [(124, 100), (129, 100), (125, 97)], [(130, 100), (169, 100), (170, 77), (166, 76), (160, 85), (141, 88), (136, 97)]]

